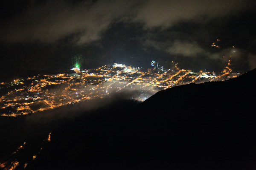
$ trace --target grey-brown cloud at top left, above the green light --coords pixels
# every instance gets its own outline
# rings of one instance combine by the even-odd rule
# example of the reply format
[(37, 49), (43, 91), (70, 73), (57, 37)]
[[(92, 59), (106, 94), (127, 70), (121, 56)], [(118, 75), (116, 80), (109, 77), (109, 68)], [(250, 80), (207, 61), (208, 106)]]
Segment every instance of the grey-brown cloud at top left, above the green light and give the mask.
[(99, 40), (111, 22), (127, 14), (132, 1), (103, 1), (68, 3), (49, 1), (32, 6), (24, 15), (16, 16), (1, 29), (1, 39), (7, 42), (55, 42), (76, 34), (78, 44)]

